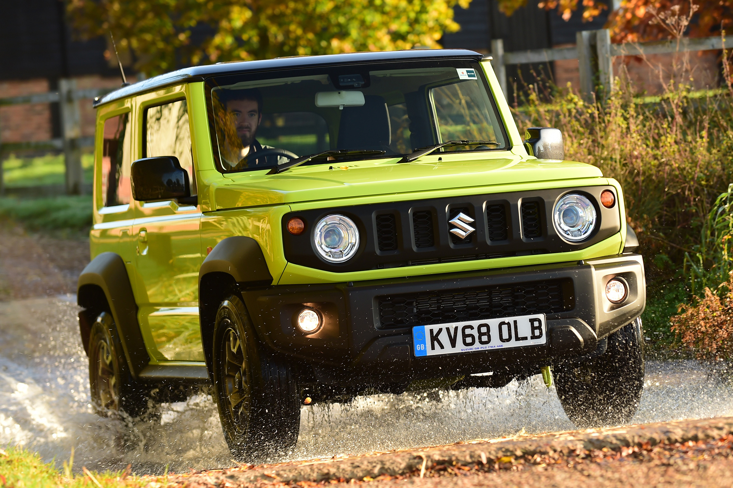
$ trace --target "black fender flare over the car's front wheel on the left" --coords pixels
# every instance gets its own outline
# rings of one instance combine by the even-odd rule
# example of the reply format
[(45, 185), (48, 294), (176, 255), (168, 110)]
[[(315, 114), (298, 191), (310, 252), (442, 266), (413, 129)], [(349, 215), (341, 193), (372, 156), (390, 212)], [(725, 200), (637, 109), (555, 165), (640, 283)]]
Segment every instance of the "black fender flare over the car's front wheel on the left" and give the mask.
[(237, 285), (272, 285), (265, 255), (259, 243), (246, 236), (227, 237), (216, 244), (199, 268), (199, 324), (209, 372), (214, 322), (219, 304)]

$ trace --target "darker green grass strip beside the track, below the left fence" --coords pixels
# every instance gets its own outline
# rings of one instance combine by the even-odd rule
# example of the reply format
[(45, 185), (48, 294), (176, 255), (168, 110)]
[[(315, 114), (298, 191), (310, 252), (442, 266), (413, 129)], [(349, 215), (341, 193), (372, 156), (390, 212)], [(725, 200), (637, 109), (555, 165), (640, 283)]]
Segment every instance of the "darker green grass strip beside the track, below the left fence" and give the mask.
[(13, 219), (28, 230), (83, 232), (92, 225), (92, 197), (0, 198), (0, 217)]

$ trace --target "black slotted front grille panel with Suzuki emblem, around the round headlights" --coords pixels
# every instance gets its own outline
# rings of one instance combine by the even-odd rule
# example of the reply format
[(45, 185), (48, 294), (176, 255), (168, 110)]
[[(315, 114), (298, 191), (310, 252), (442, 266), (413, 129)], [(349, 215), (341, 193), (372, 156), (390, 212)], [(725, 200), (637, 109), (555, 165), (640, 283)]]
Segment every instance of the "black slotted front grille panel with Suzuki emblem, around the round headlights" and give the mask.
[[(347, 273), (585, 249), (621, 229), (618, 206), (606, 209), (596, 205), (605, 189), (614, 191), (608, 185), (575, 188), (592, 197), (598, 212), (597, 229), (578, 243), (561, 239), (551, 224), (550, 209), (567, 192), (567, 188), (556, 188), (292, 211), (282, 217), (284, 254), (294, 265)], [(460, 219), (462, 224), (451, 223), (459, 212), (470, 218)], [(326, 262), (313, 249), (312, 229), (329, 214), (345, 215), (359, 229), (358, 252), (343, 263)], [(287, 222), (292, 217), (302, 219), (307, 231), (297, 236), (288, 232)], [(460, 233), (451, 232), (456, 228), (467, 235), (462, 238)], [(522, 263), (515, 260), (507, 266)], [(405, 271), (405, 276), (414, 272)]]

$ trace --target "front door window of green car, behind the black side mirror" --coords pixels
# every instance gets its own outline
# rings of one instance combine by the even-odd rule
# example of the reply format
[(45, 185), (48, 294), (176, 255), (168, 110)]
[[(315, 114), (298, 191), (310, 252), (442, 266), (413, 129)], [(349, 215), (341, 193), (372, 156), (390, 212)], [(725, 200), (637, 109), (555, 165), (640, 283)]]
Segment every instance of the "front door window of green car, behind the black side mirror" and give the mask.
[(181, 168), (188, 172), (191, 195), (196, 195), (191, 128), (188, 127), (188, 105), (185, 100), (145, 110), (144, 157), (154, 156), (177, 157)]

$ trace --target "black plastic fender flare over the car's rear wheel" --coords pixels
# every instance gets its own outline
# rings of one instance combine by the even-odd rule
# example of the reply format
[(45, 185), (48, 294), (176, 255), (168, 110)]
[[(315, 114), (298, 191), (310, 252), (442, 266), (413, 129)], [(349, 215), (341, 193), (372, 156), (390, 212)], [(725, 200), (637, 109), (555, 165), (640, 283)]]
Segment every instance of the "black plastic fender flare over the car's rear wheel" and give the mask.
[[(84, 311), (79, 314), (79, 328), (84, 341), (84, 327), (90, 327), (100, 312), (111, 312), (119, 342), (133, 378), (150, 362), (137, 320), (138, 307), (125, 262), (114, 252), (103, 252), (86, 265), (79, 275), (76, 301)], [(100, 303), (102, 300), (105, 303)], [(94, 315), (94, 317), (90, 317)], [(84, 320), (87, 322), (84, 323)], [(88, 341), (89, 331), (86, 331)], [(87, 345), (84, 345), (86, 349)]]

